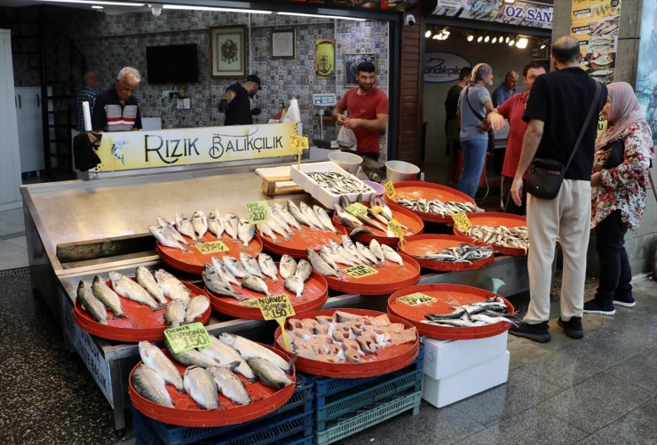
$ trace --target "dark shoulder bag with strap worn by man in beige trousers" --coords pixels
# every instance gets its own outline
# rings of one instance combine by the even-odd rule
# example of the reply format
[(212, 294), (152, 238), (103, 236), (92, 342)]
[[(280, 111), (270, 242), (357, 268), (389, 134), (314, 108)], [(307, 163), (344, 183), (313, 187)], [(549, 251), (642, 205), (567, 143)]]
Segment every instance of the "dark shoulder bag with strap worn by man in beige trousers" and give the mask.
[(596, 94), (591, 102), (589, 114), (586, 115), (586, 119), (584, 119), (582, 130), (580, 130), (580, 134), (577, 136), (568, 163), (564, 165), (556, 159), (534, 158), (532, 164), (529, 166), (529, 177), (527, 178), (526, 185), (527, 193), (541, 199), (554, 199), (557, 197), (559, 190), (561, 189), (561, 184), (564, 182), (566, 170), (568, 170), (568, 166), (571, 161), (573, 161), (575, 152), (580, 147), (582, 138), (584, 137), (584, 132), (590, 123), (595, 107), (598, 105), (601, 89), (602, 87), (600, 86), (600, 83), (596, 82)]

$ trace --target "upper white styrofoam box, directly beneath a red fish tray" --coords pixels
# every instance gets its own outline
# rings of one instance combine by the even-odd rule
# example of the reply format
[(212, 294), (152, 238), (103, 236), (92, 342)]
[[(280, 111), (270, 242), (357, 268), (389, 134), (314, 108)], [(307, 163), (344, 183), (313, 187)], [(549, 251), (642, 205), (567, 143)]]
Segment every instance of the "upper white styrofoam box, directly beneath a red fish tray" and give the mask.
[(424, 374), (440, 379), (504, 354), (507, 331), (495, 337), (472, 340), (437, 340), (423, 337)]

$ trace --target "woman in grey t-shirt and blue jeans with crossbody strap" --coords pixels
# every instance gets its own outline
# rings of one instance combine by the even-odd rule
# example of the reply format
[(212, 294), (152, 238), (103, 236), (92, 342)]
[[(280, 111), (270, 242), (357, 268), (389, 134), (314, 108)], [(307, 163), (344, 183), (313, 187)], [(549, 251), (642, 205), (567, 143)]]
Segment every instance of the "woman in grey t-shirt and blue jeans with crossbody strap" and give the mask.
[[(487, 86), (493, 84), (493, 68), (487, 63), (478, 63), (472, 68), (470, 83), (463, 88), (458, 98), (456, 118), (461, 122), (461, 147), (463, 150), (463, 170), (457, 188), (464, 194), (477, 195), (479, 178), (486, 162), (489, 128), (486, 116), (495, 109)], [(498, 119), (492, 121), (495, 130), (502, 128)]]

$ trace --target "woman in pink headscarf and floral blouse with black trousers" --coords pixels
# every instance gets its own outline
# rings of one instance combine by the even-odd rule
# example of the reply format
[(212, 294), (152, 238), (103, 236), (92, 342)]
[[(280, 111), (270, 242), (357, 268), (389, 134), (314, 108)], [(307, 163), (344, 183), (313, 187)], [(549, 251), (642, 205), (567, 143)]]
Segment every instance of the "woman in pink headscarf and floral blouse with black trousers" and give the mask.
[(645, 209), (653, 135), (634, 91), (625, 82), (607, 85), (602, 115), (606, 130), (596, 142), (591, 175), (591, 226), (596, 231), (600, 281), (584, 312), (613, 315), (614, 305), (632, 307), (632, 271), (623, 237), (636, 228)]

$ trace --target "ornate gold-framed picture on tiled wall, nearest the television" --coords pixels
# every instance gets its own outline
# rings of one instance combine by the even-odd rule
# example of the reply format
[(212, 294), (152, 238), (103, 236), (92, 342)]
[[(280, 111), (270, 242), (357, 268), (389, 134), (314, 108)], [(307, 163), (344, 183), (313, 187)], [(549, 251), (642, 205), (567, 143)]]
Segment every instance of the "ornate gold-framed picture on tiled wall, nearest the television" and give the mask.
[(244, 77), (247, 75), (246, 26), (210, 28), (210, 75)]

